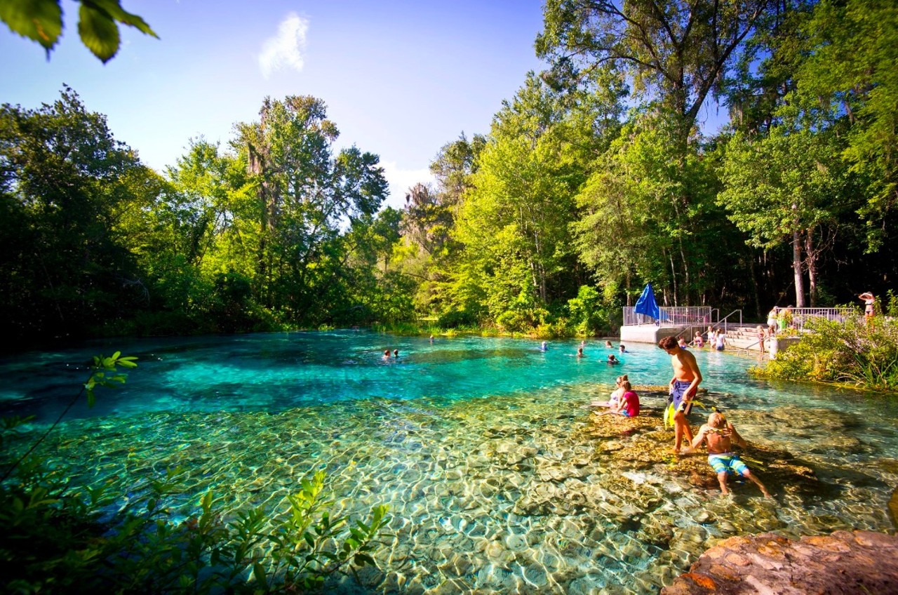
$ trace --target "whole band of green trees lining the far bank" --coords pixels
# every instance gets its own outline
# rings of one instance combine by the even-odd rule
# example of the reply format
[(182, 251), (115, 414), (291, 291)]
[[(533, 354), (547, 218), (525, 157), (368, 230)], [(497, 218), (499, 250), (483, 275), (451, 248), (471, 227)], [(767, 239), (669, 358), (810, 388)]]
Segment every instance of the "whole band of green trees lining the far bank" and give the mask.
[[(612, 329), (668, 306), (827, 306), (896, 270), (898, 9), (885, 0), (548, 0), (547, 68), (383, 208), (377, 155), (265, 99), (163, 173), (65, 88), (0, 109), (4, 336), (427, 318)], [(718, 107), (719, 106), (719, 107)], [(703, 121), (717, 113), (723, 125)]]

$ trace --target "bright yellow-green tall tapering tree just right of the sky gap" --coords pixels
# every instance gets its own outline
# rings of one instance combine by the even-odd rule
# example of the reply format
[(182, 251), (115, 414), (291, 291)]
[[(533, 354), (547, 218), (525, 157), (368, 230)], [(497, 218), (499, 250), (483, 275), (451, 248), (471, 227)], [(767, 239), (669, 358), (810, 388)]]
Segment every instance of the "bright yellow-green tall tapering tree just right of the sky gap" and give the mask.
[(536, 75), (497, 113), (471, 176), (456, 238), (462, 260), (479, 273), (489, 313), (523, 330), (542, 322), (551, 301), (565, 297), (577, 255), (570, 242), (573, 191), (583, 171), (565, 155), (564, 108)]

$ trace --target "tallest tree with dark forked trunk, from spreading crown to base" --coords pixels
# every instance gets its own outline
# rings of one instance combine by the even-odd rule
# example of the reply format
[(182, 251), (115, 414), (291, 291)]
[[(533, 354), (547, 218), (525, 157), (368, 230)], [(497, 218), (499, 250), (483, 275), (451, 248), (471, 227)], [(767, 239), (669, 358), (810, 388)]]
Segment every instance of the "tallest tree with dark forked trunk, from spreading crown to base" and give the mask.
[[(691, 183), (691, 163), (700, 155), (696, 122), (711, 93), (730, 73), (744, 42), (770, 10), (771, 0), (549, 0), (543, 9), (544, 31), (536, 40), (537, 54), (551, 62), (546, 78), (561, 88), (573, 88), (588, 76), (604, 71), (625, 76), (633, 100), (643, 111), (664, 121), (665, 161), (649, 175), (663, 173), (652, 183), (666, 186), (663, 209), (674, 218), (676, 255), (670, 277), (674, 303), (698, 298), (699, 277), (691, 264), (683, 235), (695, 235), (708, 209), (706, 196)], [(644, 180), (629, 183), (642, 184)]]

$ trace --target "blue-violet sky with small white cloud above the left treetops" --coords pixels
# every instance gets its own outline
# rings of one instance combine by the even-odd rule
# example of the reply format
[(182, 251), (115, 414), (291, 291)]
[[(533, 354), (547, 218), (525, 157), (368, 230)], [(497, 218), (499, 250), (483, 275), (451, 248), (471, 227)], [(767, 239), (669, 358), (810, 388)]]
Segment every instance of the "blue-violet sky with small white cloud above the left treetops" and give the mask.
[(328, 105), (339, 146), (381, 157), (389, 203), (427, 182), (428, 165), (464, 131), (489, 132), (503, 99), (540, 70), (538, 0), (122, 0), (159, 35), (122, 27), (105, 66), (77, 37), (78, 4), (49, 61), (3, 25), (0, 102), (37, 108), (63, 84), (115, 137), (159, 171), (189, 138), (223, 145), (233, 124), (257, 120), (269, 95), (313, 95)]

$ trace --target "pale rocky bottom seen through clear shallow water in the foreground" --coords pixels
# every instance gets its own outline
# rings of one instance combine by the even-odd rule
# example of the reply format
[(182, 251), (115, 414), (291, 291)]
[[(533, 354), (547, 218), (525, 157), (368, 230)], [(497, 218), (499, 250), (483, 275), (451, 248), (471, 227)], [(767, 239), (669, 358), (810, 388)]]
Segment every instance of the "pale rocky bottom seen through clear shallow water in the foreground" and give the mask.
[[(110, 417), (67, 423), (45, 448), (73, 480), (110, 481), (126, 499), (182, 469), (183, 493), (167, 503), (175, 520), (196, 514), (208, 489), (229, 507), (282, 511), (296, 484), (323, 469), (339, 512), (391, 507), (380, 568), (360, 573), (371, 593), (656, 594), (727, 537), (893, 528), (894, 460), (833, 456), (870, 448), (850, 436), (854, 413), (727, 412), (750, 443), (744, 460), (775, 497), (737, 479), (723, 497), (707, 457), (671, 454), (664, 387), (638, 387), (645, 412), (635, 419), (592, 413), (587, 404), (609, 389)], [(696, 407), (694, 429), (707, 414)], [(819, 420), (836, 430), (816, 448)], [(768, 440), (776, 424), (808, 448)], [(355, 582), (330, 587), (359, 592)]]

